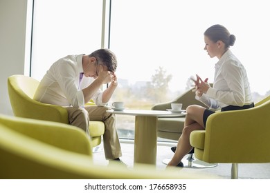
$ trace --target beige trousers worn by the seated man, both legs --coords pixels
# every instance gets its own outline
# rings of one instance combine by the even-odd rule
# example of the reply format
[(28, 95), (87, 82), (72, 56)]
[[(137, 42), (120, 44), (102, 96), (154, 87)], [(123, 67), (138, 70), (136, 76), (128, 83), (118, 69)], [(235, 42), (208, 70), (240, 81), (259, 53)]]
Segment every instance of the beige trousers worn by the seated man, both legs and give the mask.
[(89, 135), (89, 121), (102, 121), (105, 124), (103, 144), (106, 159), (116, 159), (122, 156), (120, 142), (116, 130), (116, 116), (106, 112), (108, 108), (99, 106), (85, 106), (84, 108), (66, 108), (69, 113), (69, 123), (84, 130)]

